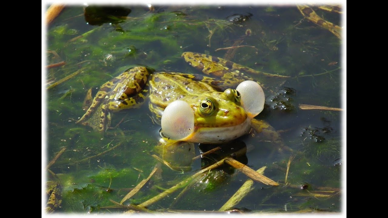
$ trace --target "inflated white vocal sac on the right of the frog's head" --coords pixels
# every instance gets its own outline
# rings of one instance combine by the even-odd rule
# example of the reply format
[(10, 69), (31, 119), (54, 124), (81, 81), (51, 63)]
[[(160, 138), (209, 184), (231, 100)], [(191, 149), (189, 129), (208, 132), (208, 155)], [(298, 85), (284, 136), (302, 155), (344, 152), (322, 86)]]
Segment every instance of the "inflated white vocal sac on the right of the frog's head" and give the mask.
[(255, 81), (243, 81), (236, 90), (241, 93), (241, 105), (250, 118), (254, 118), (264, 109), (265, 96), (262, 87)]

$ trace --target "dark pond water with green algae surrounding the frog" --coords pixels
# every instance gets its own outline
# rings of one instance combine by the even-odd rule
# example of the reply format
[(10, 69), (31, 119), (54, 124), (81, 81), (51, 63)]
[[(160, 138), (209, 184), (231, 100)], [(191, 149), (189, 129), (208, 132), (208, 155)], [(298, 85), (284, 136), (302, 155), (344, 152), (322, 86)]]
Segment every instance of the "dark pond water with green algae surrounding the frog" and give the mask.
[[(329, 22), (341, 26), (341, 14), (327, 7), (299, 9), (297, 5), (65, 7), (45, 36), (46, 64), (65, 62), (47, 68), (43, 84), (47, 119), (42, 165), (48, 165), (43, 178), (54, 181), (56, 189), (49, 193), (57, 199), (50, 209), (64, 214), (124, 213), (129, 209), (111, 200), (122, 201), (156, 169), (123, 205), (141, 205), (179, 183), (174, 192), (145, 208), (158, 213), (216, 213), (248, 176), (227, 164), (192, 176), (229, 156), (253, 170), (266, 166), (263, 174), (279, 183), (254, 182), (242, 199), (226, 208), (229, 211), (343, 212), (342, 112), (300, 106), (344, 107), (341, 35), (322, 27)], [(321, 26), (313, 22), (313, 13), (306, 16), (310, 10), (324, 19), (317, 22)], [(131, 67), (201, 74), (184, 61), (183, 52), (289, 76), (268, 84), (274, 92), (265, 91), (265, 109), (255, 118), (269, 123), (281, 138), (271, 140), (253, 131), (225, 145), (163, 147), (160, 125), (147, 102), (112, 113), (104, 133), (76, 123), (90, 105), (85, 102), (88, 90), (94, 97), (102, 84)], [(218, 146), (217, 152), (195, 158)]]

